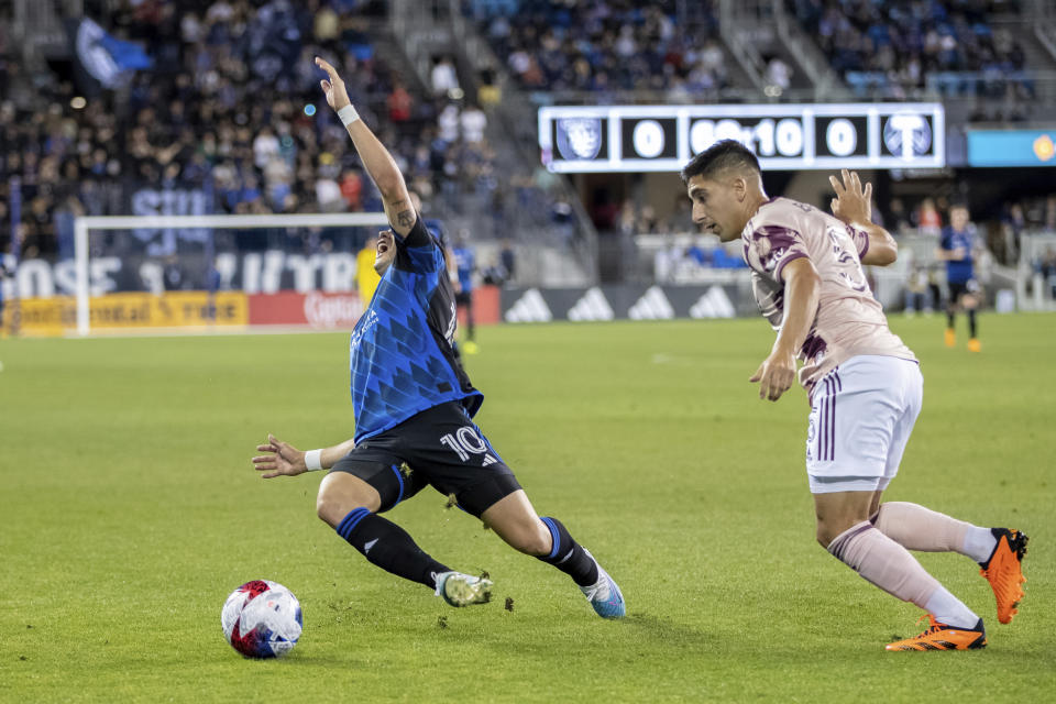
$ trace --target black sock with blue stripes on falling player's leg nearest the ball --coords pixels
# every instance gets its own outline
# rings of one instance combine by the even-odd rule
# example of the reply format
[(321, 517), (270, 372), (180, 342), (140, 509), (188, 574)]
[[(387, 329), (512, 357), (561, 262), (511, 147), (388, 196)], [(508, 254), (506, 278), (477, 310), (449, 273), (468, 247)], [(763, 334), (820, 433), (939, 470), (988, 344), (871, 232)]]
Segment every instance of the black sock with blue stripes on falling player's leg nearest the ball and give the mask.
[(373, 564), (429, 588), (436, 587), (437, 574), (450, 571), (422, 552), (406, 530), (365, 508), (349, 512), (336, 530)]

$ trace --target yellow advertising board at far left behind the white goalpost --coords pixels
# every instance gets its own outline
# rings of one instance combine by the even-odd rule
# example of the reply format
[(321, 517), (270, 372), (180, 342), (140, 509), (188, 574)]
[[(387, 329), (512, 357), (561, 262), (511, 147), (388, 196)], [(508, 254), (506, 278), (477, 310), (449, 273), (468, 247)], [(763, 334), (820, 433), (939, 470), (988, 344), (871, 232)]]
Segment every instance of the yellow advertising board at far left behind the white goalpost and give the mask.
[[(242, 292), (209, 295), (204, 290), (170, 292), (155, 296), (143, 293), (110, 294), (89, 299), (94, 332), (158, 328), (208, 328), (249, 324), (249, 301)], [(72, 296), (8, 300), (3, 330), (18, 333), (61, 336), (77, 329), (77, 302)]]

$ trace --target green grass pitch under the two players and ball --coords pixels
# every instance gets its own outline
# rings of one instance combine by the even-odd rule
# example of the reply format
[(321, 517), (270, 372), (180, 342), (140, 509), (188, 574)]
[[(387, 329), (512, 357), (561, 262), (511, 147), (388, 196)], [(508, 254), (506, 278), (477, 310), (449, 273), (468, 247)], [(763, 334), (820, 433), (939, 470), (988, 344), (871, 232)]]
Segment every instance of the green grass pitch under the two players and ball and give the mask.
[[(431, 490), (391, 517), (497, 603), (370, 565), (315, 517), (321, 474), (255, 475), (267, 431), (352, 433), (344, 334), (0, 340), (0, 701), (1052, 701), (1056, 318), (981, 324), (969, 354), (938, 317), (892, 319), (925, 409), (888, 497), (1033, 537), (1011, 626), (971, 562), (921, 557), (989, 626), (957, 653), (884, 652), (919, 609), (814, 542), (804, 394), (747, 383), (760, 320), (480, 331), (479, 424), (620, 583), (618, 623)], [(284, 660), (222, 637), (257, 578), (304, 606)]]

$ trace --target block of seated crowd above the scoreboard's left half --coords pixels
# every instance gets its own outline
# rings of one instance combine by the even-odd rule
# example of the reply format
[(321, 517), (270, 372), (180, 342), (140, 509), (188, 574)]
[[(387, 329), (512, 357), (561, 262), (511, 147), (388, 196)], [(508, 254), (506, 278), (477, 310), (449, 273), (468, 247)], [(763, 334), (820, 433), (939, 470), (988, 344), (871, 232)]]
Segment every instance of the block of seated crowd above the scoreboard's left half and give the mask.
[[(607, 97), (635, 91), (667, 100), (714, 99), (728, 85), (714, 0), (473, 0), (496, 54), (528, 90)], [(587, 98), (590, 99), (590, 98)]]

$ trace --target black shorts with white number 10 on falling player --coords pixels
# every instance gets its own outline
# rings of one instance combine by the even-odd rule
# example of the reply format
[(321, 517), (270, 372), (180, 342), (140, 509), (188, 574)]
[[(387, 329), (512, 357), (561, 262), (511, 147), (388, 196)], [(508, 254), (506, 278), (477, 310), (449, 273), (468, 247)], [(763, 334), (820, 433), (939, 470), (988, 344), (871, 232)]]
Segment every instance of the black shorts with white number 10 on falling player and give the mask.
[(454, 494), (460, 508), (480, 517), (520, 488), (458, 402), (433, 406), (367, 438), (330, 471), (348, 472), (373, 486), (382, 497), (378, 513), (432, 486)]

